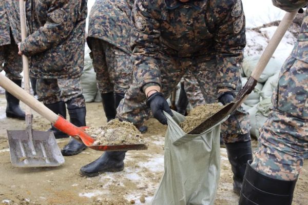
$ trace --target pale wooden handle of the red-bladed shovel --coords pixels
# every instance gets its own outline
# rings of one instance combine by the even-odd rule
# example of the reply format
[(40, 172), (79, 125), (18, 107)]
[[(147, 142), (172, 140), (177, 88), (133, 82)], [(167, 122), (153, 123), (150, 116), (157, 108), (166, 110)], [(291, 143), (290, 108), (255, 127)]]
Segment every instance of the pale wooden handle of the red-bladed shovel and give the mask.
[(32, 95), (24, 91), (21, 87), (17, 86), (13, 83), (9, 78), (0, 73), (0, 86), (7, 90), (9, 93), (14, 95), (16, 98), (23, 101), (27, 106), (32, 108), (38, 114), (42, 115), (46, 119), (48, 119), (52, 124), (58, 119), (54, 112), (49, 110), (46, 106), (44, 106), (40, 101), (35, 99)]

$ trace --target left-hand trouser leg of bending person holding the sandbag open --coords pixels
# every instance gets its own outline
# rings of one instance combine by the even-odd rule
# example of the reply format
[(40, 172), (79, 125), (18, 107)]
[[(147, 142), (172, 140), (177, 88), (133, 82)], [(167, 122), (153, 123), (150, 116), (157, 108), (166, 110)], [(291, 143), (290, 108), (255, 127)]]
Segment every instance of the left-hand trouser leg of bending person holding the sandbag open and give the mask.
[[(186, 70), (186, 61), (177, 60), (167, 55), (160, 56), (161, 68), (161, 92), (167, 99), (171, 94)], [(125, 93), (124, 100), (121, 101), (117, 109), (117, 118), (130, 121), (139, 126), (150, 117), (150, 109), (146, 106), (146, 96), (133, 78), (132, 85)]]

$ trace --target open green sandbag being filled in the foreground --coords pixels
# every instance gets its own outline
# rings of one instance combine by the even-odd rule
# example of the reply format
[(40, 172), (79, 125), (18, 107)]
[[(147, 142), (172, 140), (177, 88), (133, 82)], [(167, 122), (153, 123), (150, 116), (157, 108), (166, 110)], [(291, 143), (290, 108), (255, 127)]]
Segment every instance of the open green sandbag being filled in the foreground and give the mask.
[(188, 135), (175, 111), (165, 136), (164, 175), (152, 205), (214, 204), (220, 176), (220, 124), (198, 135)]

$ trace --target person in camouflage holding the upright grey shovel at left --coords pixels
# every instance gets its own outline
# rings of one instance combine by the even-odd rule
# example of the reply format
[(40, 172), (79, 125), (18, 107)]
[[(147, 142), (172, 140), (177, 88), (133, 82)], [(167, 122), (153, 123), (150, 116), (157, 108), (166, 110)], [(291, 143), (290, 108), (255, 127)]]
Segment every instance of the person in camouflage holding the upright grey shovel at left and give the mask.
[[(30, 75), (37, 78), (38, 99), (54, 113), (75, 126), (86, 125), (85, 99), (80, 86), (84, 66), (86, 0), (29, 0), (26, 17), (30, 35), (20, 45), (20, 54), (30, 57)], [(64, 133), (52, 128), (56, 138)], [(84, 150), (83, 143), (71, 138), (63, 155)]]

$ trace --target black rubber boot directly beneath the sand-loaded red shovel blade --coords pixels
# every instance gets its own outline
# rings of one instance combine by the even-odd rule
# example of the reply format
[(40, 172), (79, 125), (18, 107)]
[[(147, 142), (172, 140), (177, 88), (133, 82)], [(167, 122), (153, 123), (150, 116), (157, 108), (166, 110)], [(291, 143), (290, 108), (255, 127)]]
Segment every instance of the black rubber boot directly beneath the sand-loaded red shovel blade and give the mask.
[(124, 169), (125, 151), (105, 152), (97, 160), (80, 169), (80, 174), (86, 177), (98, 176), (104, 172), (120, 172)]

